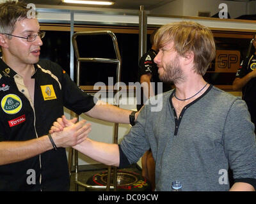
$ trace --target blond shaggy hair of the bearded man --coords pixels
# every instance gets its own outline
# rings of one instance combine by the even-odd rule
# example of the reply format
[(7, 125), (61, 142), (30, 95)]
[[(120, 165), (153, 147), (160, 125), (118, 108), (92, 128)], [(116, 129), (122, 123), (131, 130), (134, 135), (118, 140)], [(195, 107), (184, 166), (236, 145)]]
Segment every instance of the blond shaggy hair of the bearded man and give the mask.
[(180, 56), (185, 57), (189, 52), (193, 52), (195, 72), (205, 75), (216, 53), (212, 32), (196, 22), (182, 21), (163, 25), (154, 38), (157, 50), (171, 41)]

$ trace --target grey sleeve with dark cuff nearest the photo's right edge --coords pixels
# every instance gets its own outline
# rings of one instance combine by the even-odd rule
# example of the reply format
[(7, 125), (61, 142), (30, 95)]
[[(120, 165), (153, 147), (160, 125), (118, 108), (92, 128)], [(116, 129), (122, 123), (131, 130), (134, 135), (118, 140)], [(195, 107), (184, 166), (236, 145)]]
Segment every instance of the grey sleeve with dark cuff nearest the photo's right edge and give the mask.
[[(236, 99), (225, 122), (224, 149), (234, 179), (256, 179), (256, 141), (254, 124), (246, 103)], [(246, 182), (246, 180), (244, 180)]]

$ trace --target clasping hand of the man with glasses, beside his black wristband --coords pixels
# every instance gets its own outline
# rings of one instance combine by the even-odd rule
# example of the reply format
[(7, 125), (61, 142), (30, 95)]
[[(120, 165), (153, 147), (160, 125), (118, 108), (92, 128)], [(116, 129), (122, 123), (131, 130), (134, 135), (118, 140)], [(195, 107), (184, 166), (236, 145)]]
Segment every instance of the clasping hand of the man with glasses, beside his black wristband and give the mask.
[(63, 128), (62, 131), (50, 132), (57, 147), (72, 147), (77, 145), (83, 142), (88, 137), (90, 131), (92, 131), (91, 124), (86, 123), (86, 120), (81, 120), (76, 124), (73, 121), (68, 120), (68, 124), (65, 124), (67, 127)]

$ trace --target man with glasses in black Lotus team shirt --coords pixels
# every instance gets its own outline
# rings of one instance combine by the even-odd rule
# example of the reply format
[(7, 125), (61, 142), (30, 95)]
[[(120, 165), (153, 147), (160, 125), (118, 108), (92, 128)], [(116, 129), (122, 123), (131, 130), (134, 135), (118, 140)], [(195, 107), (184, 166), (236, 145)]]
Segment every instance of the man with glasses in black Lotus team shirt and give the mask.
[(131, 111), (97, 101), (58, 64), (39, 61), (45, 32), (28, 11), (20, 2), (0, 4), (0, 191), (68, 191), (63, 147), (82, 142), (90, 124), (82, 120), (63, 133), (48, 134), (63, 106), (122, 123), (129, 123)]

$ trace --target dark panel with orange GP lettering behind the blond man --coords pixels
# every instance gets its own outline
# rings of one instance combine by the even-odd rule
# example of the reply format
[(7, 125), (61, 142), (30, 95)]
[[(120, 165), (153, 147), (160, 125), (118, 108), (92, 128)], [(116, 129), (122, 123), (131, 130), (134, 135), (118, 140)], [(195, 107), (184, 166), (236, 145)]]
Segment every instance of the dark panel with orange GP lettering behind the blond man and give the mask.
[[(213, 32), (214, 33), (214, 32)], [(227, 36), (230, 35), (230, 38)], [(248, 53), (248, 47), (253, 34), (232, 34), (223, 33), (223, 38), (214, 37), (216, 43), (216, 58), (207, 69), (204, 78), (213, 85), (220, 85), (221, 89), (232, 89), (232, 83), (236, 77), (241, 60)], [(254, 50), (251, 50), (251, 53)], [(223, 85), (223, 86), (221, 86)]]

